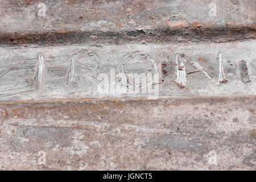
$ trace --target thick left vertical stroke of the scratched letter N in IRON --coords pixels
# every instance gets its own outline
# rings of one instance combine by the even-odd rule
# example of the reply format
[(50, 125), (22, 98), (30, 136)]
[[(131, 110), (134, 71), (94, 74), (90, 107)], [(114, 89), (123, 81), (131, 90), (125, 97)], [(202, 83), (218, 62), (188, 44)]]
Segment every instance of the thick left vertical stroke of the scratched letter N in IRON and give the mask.
[(181, 60), (179, 63), (178, 55), (176, 55), (176, 67), (177, 67), (176, 82), (179, 83), (181, 87), (185, 87), (186, 86), (186, 72), (185, 72), (185, 65), (183, 62), (183, 57), (181, 57)]

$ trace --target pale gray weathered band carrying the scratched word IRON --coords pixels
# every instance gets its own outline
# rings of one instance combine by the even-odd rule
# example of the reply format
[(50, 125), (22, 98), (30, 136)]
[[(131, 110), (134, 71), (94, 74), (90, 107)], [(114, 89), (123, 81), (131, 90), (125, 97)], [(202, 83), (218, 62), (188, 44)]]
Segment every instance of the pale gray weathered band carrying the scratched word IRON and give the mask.
[[(97, 53), (98, 67), (88, 71), (97, 78), (100, 73), (110, 76), (110, 69), (118, 72), (123, 57), (128, 52), (148, 53), (155, 60), (159, 72), (159, 97), (172, 96), (230, 96), (256, 93), (255, 40), (232, 43), (179, 43), (179, 44), (125, 44), (122, 46), (74, 45), (61, 47), (1, 47), (0, 59), (0, 101), (51, 100), (52, 98), (131, 98), (146, 97), (147, 94), (100, 94), (97, 86), (78, 73), (77, 87), (68, 85), (68, 72), (71, 69), (71, 56), (82, 49)], [(207, 72), (218, 80), (217, 54), (222, 51), (223, 67), (228, 82), (216, 87), (203, 73), (187, 75), (187, 86), (180, 88), (175, 82), (175, 54), (185, 53), (201, 64)], [(39, 53), (44, 56), (45, 69), (40, 90), (36, 89), (35, 76), (38, 72)], [(127, 59), (127, 58), (126, 58)], [(81, 59), (78, 63), (85, 67), (94, 67), (95, 62)], [(242, 66), (241, 66), (242, 64)], [(196, 71), (188, 63), (186, 72)], [(149, 65), (130, 64), (131, 73), (147, 73)], [(136, 68), (136, 69), (134, 69)], [(130, 73), (129, 72), (129, 73)], [(247, 81), (245, 81), (247, 80)], [(101, 81), (101, 80), (99, 80)], [(118, 82), (118, 81), (117, 81)]]

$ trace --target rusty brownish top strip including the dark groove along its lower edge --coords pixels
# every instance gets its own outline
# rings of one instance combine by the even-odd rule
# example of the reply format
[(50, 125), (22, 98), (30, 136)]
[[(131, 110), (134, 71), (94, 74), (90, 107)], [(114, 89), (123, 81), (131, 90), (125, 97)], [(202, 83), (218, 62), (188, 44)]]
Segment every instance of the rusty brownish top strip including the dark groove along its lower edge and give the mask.
[[(255, 38), (255, 1), (1, 1), (0, 43), (229, 42)], [(43, 6), (44, 15), (39, 15)], [(216, 16), (210, 16), (210, 5)]]

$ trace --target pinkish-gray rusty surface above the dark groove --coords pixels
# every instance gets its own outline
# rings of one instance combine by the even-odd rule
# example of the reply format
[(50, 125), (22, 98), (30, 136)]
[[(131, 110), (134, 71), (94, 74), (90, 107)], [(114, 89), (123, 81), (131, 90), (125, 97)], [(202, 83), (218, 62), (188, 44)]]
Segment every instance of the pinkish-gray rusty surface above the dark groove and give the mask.
[[(241, 26), (255, 22), (255, 1), (1, 1), (2, 33), (70, 32), (164, 27)], [(39, 16), (46, 5), (46, 16)], [(216, 16), (210, 16), (210, 3)]]

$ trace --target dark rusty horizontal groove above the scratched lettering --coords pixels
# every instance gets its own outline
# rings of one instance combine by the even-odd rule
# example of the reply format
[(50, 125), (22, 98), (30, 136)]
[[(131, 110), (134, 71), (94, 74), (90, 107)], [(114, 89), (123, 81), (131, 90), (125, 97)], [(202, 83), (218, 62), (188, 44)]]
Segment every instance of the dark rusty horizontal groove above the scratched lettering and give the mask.
[(154, 30), (34, 32), (1, 34), (0, 44), (39, 44), (42, 46), (100, 43), (174, 43), (174, 42), (234, 42), (255, 38), (250, 27), (183, 27)]

